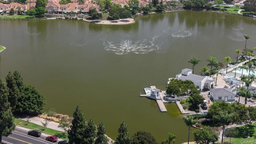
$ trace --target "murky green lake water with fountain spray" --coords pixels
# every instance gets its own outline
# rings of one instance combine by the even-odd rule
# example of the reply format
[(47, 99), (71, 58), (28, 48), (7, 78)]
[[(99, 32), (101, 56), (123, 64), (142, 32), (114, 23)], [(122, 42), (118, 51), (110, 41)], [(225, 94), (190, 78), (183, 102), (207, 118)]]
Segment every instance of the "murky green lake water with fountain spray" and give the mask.
[[(208, 56), (220, 62), (236, 49), (256, 46), (256, 19), (214, 12), (150, 14), (128, 25), (98, 25), (77, 20), (0, 20), (0, 76), (18, 70), (24, 82), (47, 98), (45, 110), (72, 116), (77, 105), (86, 120), (104, 122), (115, 139), (122, 121), (128, 131), (150, 132), (158, 142), (177, 136), (187, 141), (188, 127), (176, 104), (160, 112), (156, 102), (140, 97), (143, 88), (165, 90), (193, 57), (198, 74)], [(191, 134), (192, 136), (192, 134)], [(192, 137), (191, 137), (191, 140)]]

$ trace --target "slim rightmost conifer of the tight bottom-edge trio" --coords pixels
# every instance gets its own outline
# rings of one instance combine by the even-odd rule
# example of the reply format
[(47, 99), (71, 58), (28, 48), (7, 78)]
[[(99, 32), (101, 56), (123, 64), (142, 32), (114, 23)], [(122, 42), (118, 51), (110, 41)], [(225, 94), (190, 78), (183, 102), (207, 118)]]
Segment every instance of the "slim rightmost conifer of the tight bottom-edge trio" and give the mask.
[(103, 122), (100, 122), (97, 126), (97, 135), (95, 144), (108, 144), (108, 138), (105, 136), (106, 130)]

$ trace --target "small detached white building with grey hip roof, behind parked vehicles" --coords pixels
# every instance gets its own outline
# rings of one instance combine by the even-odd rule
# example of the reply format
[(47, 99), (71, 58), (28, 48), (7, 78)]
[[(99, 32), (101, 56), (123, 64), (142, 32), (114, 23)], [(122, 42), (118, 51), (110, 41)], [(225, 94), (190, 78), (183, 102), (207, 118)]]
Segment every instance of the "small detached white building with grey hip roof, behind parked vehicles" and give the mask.
[(236, 94), (230, 88), (210, 89), (210, 99), (213, 101), (234, 102), (235, 96)]

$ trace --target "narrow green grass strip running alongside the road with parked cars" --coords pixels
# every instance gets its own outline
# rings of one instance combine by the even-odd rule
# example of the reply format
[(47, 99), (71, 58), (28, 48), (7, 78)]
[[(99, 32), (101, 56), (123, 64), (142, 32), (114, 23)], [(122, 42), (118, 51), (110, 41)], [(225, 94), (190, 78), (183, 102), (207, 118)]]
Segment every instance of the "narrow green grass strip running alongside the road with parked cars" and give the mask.
[[(21, 124), (20, 124), (20, 122), (21, 122)], [(64, 134), (63, 134), (64, 132), (60, 132), (58, 130), (53, 130), (53, 129), (50, 129), (50, 128), (46, 128), (44, 130), (43, 126), (34, 124), (32, 122), (27, 122), (25, 120), (20, 120), (18, 118), (15, 118), (14, 123), (16, 124), (16, 126), (22, 126), (24, 128), (29, 128), (29, 129), (32, 129), (32, 130), (34, 130), (34, 129), (41, 130), (42, 133), (49, 134), (49, 135), (54, 135), (54, 136), (57, 136), (58, 138), (68, 140), (68, 138), (66, 136), (64, 136)]]

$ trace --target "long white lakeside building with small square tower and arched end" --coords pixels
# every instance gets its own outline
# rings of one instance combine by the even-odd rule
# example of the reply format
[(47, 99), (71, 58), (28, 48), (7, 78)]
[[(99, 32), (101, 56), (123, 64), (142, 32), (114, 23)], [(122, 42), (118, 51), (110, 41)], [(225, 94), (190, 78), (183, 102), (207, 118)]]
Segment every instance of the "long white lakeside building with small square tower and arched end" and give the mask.
[(192, 70), (188, 68), (183, 69), (180, 74), (177, 74), (176, 79), (191, 80), (199, 90), (214, 88), (214, 80), (211, 77), (192, 74)]

